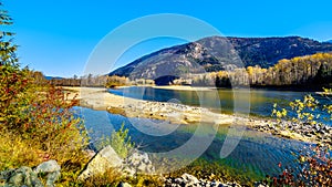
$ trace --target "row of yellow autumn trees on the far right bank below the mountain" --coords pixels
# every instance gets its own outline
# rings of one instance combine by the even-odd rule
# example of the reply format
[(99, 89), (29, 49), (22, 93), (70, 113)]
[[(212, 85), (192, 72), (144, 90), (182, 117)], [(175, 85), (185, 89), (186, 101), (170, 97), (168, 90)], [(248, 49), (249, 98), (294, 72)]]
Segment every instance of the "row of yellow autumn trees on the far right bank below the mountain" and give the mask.
[(332, 83), (332, 54), (317, 53), (280, 60), (276, 65), (259, 65), (212, 72), (193, 77), (193, 85), (231, 86), (329, 86)]

